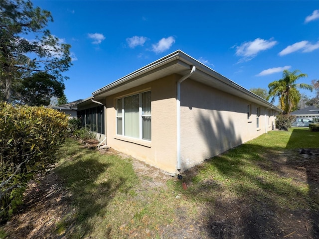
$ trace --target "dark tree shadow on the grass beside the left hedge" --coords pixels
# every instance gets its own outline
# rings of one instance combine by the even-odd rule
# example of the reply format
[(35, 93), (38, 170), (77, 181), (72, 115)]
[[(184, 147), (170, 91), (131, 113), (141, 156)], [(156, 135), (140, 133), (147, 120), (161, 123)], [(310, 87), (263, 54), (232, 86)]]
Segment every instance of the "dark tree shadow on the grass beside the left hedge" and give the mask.
[[(127, 192), (124, 177), (103, 177), (114, 165), (101, 160), (96, 150), (83, 149), (76, 156), (59, 165), (55, 172), (64, 179), (65, 185), (73, 192), (75, 213), (63, 225), (72, 232), (71, 238), (82, 238), (93, 230), (90, 219), (105, 214), (107, 205), (118, 192)], [(91, 220), (92, 221), (92, 220)], [(94, 221), (94, 220), (93, 220)], [(107, 229), (106, 229), (107, 230)], [(108, 235), (110, 232), (105, 232)]]

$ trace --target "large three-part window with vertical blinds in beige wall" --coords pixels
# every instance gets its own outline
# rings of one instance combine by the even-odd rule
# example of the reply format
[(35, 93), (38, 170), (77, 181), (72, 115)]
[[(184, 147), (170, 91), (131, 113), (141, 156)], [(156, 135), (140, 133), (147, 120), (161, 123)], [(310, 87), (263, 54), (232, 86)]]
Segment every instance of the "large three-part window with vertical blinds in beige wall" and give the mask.
[(151, 91), (116, 100), (117, 134), (151, 140)]

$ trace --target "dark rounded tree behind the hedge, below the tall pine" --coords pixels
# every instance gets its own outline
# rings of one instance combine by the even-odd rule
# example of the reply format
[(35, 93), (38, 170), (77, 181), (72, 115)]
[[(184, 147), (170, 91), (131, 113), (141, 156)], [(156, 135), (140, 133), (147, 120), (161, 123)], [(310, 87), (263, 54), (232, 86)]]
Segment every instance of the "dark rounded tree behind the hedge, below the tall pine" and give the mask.
[(65, 86), (46, 72), (22, 79), (16, 87), (16, 102), (29, 106), (48, 106), (52, 97), (62, 97)]

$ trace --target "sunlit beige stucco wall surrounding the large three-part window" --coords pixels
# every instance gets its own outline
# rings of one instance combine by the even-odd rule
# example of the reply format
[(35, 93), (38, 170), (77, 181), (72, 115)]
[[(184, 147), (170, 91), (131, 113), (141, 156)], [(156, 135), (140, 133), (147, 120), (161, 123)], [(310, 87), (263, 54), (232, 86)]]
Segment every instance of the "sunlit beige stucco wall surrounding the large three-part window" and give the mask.
[[(116, 134), (116, 99), (151, 90), (152, 140), (136, 140)], [(106, 99), (107, 144), (123, 153), (175, 173), (176, 76), (171, 75)]]

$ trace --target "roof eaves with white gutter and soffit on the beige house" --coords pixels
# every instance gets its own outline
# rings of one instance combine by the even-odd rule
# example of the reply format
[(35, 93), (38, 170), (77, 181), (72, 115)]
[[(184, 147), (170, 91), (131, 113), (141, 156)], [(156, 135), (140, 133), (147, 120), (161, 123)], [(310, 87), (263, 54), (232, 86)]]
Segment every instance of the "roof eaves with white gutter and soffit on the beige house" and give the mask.
[(133, 87), (163, 78), (171, 74), (185, 76), (189, 74), (192, 66), (196, 67), (196, 71), (189, 77), (189, 79), (282, 112), (282, 110), (275, 105), (217, 73), (208, 66), (195, 60), (180, 50), (172, 52), (171, 54), (164, 56), (159, 60), (142, 67), (107, 86), (102, 87), (101, 89), (93, 92), (92, 95), (96, 100), (100, 100), (104, 97), (131, 89)]

